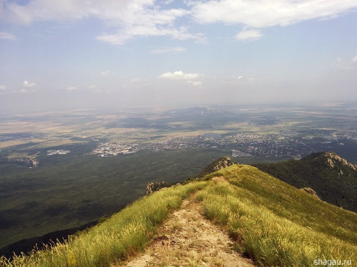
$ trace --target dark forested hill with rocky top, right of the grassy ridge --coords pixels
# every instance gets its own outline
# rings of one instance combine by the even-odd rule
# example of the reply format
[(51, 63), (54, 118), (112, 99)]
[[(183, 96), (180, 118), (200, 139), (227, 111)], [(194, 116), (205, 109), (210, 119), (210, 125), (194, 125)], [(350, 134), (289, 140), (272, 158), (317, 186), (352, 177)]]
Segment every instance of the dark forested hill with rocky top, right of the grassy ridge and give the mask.
[(357, 212), (357, 166), (333, 152), (251, 165), (297, 188), (312, 188), (323, 201)]

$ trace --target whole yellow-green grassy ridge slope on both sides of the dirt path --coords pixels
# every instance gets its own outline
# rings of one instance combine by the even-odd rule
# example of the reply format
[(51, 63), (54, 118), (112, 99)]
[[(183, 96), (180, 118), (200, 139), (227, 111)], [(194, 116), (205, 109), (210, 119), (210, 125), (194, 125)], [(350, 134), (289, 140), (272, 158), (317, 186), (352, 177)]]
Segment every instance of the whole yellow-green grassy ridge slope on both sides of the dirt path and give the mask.
[[(31, 258), (16, 257), (13, 265), (2, 259), (0, 266), (125, 264), (157, 242), (154, 237), (161, 235), (159, 227), (164, 227), (167, 219), (175, 216), (170, 214), (180, 210), (183, 199), (192, 194), (206, 218), (230, 234), (232, 248), (255, 265), (307, 267), (318, 258), (357, 262), (356, 213), (324, 203), (252, 166), (233, 164), (186, 185), (143, 197), (66, 244)], [(199, 251), (199, 244), (191, 246)], [(175, 255), (181, 257), (185, 252), (183, 245)], [(204, 258), (197, 257), (182, 266), (205, 264)]]

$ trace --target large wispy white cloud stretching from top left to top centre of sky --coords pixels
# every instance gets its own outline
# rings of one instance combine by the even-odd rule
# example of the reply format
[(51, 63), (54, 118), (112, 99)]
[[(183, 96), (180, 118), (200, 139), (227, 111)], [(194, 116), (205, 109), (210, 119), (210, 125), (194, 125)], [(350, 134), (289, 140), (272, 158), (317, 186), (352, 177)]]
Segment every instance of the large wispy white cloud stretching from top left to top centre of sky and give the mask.
[(95, 17), (117, 30), (102, 33), (96, 39), (112, 45), (122, 45), (135, 36), (169, 36), (179, 40), (192, 39), (206, 42), (202, 33), (192, 34), (186, 27), (175, 27), (175, 20), (191, 14), (190, 10), (167, 9), (171, 1), (61, 1), (32, 0), (27, 5), (7, 4), (9, 20), (31, 23), (33, 21), (82, 20)]

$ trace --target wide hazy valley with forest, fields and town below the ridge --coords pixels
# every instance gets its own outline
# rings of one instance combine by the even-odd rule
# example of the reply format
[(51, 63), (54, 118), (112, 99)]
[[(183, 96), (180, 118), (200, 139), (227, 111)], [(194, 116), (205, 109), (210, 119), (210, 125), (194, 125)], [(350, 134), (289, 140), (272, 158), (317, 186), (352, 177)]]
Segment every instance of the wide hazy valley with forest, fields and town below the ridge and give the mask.
[(180, 182), (222, 156), (253, 164), (334, 151), (357, 163), (357, 116), (355, 106), (346, 105), (74, 110), (2, 118), (0, 247), (95, 223), (145, 195), (148, 183)]

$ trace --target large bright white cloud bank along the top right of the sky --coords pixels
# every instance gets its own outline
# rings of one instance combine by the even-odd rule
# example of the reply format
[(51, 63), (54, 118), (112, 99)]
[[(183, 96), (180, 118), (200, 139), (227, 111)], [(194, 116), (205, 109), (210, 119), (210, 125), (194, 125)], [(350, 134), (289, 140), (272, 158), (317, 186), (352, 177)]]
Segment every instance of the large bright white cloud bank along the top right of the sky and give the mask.
[(189, 1), (199, 23), (223, 22), (253, 28), (287, 26), (311, 19), (328, 19), (357, 7), (355, 0), (209, 0)]

